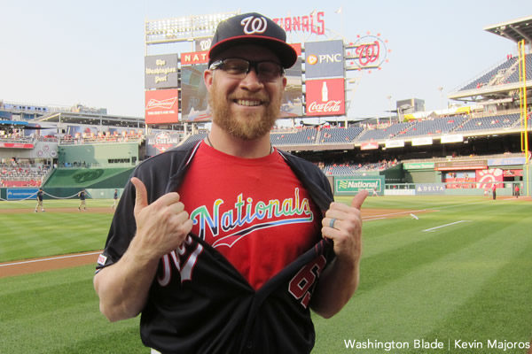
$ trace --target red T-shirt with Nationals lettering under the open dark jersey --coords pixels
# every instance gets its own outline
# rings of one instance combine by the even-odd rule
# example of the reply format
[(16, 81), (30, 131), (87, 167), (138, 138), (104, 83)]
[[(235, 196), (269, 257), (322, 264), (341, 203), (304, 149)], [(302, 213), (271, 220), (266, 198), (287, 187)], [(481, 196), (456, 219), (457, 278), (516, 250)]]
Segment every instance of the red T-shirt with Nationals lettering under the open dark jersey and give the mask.
[(321, 237), (318, 209), (284, 158), (236, 158), (201, 143), (177, 191), (192, 232), (259, 289)]

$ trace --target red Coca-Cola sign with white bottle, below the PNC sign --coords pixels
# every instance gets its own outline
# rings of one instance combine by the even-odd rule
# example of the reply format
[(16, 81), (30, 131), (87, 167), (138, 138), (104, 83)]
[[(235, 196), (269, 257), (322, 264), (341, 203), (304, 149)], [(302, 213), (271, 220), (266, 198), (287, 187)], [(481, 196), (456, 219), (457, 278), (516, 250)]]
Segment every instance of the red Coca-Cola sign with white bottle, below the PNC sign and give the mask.
[(345, 114), (344, 79), (307, 81), (307, 116)]

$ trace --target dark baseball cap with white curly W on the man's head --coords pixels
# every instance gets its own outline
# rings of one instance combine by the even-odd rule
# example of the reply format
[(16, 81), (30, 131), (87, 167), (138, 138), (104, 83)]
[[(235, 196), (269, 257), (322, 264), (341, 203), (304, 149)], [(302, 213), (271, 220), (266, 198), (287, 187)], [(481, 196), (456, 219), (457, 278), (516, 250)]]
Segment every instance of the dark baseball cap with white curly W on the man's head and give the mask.
[(285, 68), (291, 67), (297, 60), (297, 52), (286, 43), (285, 30), (260, 13), (249, 12), (224, 19), (218, 24), (208, 51), (208, 65), (221, 51), (245, 43), (268, 47)]

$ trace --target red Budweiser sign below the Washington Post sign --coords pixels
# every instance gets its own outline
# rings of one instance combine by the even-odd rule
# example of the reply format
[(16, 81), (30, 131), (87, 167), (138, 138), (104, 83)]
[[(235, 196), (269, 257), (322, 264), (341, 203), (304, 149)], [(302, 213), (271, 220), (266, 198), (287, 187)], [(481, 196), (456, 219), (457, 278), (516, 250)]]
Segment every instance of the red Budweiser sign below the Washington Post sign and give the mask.
[(177, 89), (145, 91), (146, 124), (177, 123), (179, 103)]

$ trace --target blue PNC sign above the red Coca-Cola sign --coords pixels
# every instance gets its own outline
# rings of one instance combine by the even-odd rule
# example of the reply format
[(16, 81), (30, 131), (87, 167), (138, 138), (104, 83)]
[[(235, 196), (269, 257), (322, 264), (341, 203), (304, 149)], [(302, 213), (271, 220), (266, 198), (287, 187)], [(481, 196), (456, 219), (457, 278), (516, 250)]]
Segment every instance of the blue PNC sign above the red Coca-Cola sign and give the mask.
[(307, 79), (345, 76), (343, 41), (306, 42), (305, 56)]

